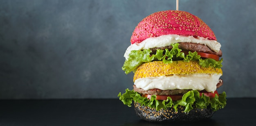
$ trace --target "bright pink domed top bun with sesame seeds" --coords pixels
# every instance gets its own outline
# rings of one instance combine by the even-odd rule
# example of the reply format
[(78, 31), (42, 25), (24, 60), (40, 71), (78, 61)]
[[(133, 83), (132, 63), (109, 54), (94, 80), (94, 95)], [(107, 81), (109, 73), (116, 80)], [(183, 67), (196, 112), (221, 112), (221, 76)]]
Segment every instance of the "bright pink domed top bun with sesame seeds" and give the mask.
[(132, 33), (131, 43), (140, 43), (149, 37), (161, 35), (193, 35), (210, 40), (216, 37), (199, 17), (186, 11), (159, 11), (145, 17)]

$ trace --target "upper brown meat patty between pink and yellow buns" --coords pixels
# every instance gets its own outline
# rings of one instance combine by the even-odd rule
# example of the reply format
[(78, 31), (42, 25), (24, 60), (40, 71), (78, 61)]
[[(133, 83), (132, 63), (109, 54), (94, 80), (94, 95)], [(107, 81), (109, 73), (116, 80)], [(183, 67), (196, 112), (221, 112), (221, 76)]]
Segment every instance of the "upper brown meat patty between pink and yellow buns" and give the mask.
[[(204, 52), (204, 53), (209, 53), (209, 54), (216, 54), (216, 55), (218, 55), (220, 57), (222, 56), (222, 51), (221, 50), (219, 52), (214, 52), (208, 46), (205, 46), (205, 45), (202, 45), (202, 44), (189, 43), (189, 42), (180, 42), (179, 44), (180, 44), (179, 48), (182, 49), (182, 50), (188, 50), (188, 51), (191, 51), (191, 52), (193, 52), (193, 51)], [(166, 48), (171, 50), (173, 48), (173, 46), (151, 48), (150, 50), (152, 50), (152, 54), (155, 54), (157, 49), (164, 50)]]

